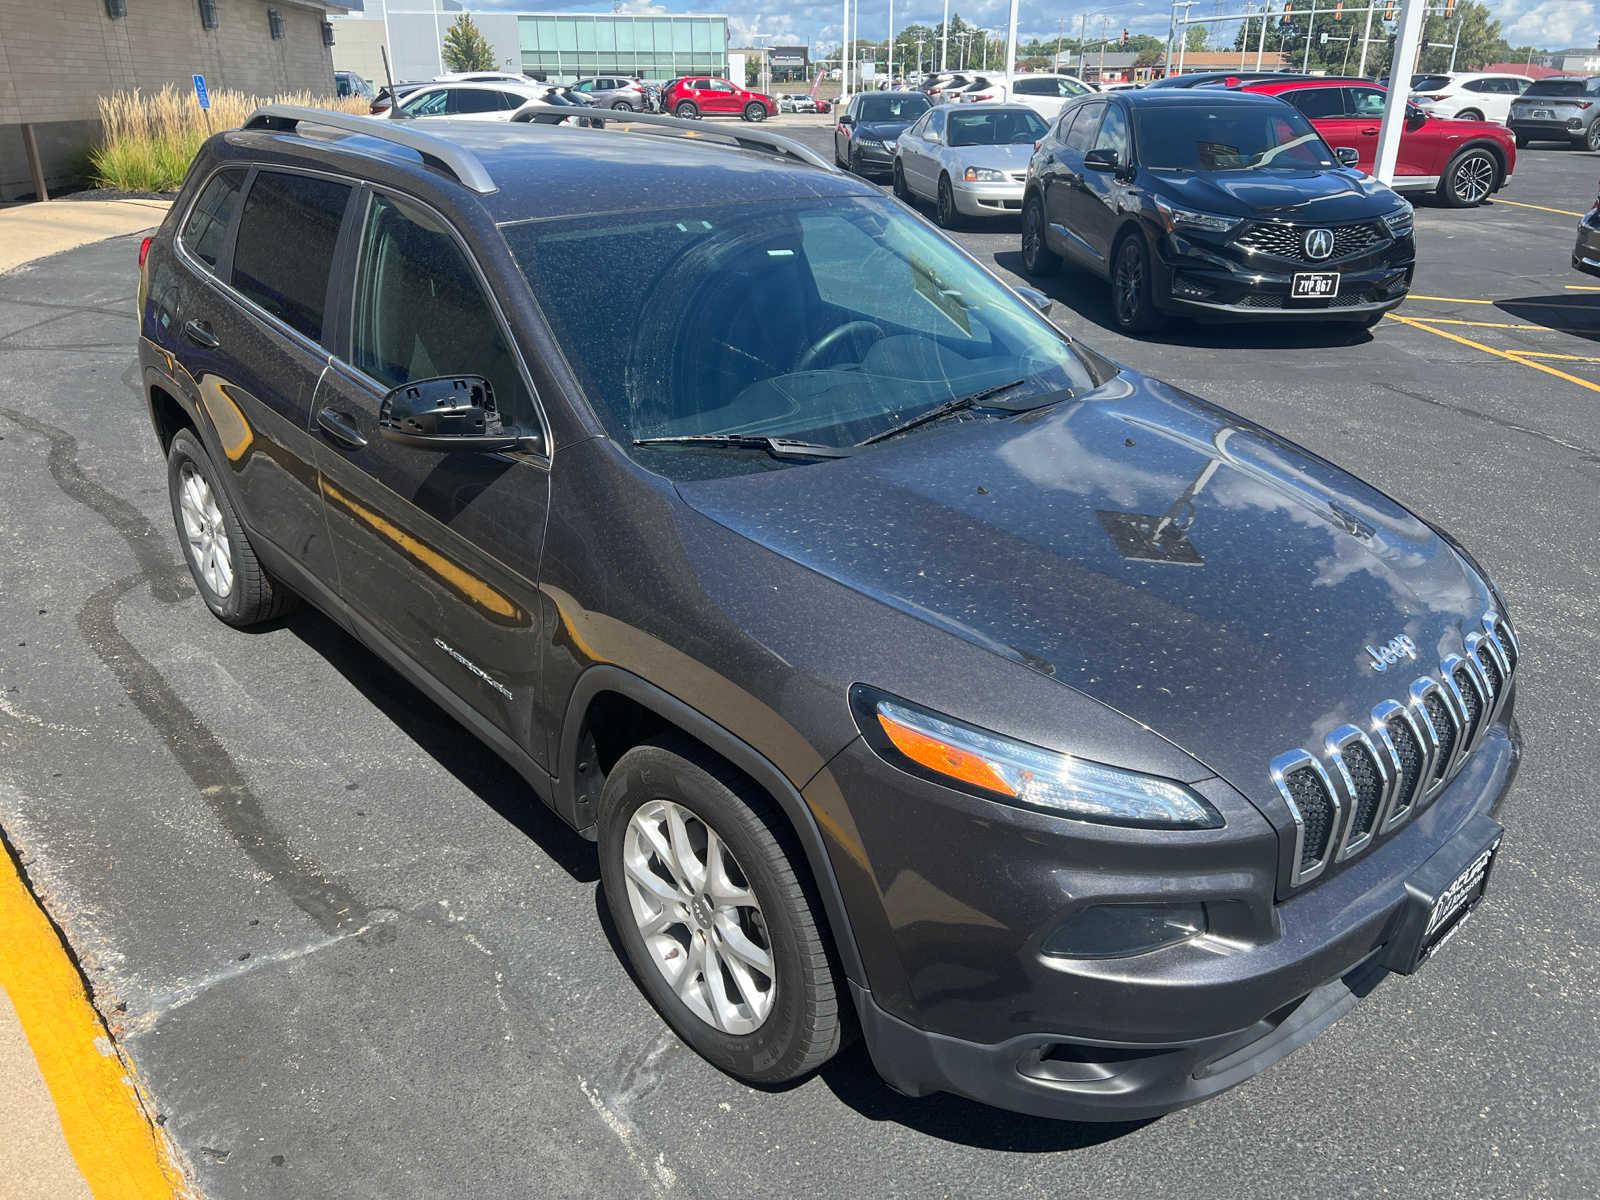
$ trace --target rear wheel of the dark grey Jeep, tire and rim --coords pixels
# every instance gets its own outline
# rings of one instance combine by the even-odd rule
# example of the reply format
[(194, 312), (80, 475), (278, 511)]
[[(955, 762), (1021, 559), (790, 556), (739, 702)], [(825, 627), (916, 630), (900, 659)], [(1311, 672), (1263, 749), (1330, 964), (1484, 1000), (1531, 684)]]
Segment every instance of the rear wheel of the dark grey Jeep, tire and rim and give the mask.
[(200, 438), (179, 429), (166, 451), (166, 490), (184, 562), (218, 619), (243, 629), (294, 606), (294, 594), (272, 579), (256, 558), (232, 501)]

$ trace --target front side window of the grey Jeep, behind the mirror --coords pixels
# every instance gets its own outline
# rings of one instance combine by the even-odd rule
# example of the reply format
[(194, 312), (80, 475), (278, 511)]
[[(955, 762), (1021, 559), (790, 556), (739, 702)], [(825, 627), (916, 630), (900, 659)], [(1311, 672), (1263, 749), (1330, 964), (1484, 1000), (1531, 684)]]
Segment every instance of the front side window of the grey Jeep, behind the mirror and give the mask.
[(501, 323), (461, 246), (429, 213), (374, 195), (362, 232), (350, 363), (384, 387), (480, 374), (507, 421), (531, 405)]

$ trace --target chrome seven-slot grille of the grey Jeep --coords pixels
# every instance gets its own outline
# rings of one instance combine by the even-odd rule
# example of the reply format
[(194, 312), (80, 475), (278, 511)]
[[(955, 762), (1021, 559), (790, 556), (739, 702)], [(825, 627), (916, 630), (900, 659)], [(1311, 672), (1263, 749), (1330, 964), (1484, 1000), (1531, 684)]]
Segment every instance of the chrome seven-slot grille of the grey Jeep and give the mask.
[[(1398, 672), (1398, 664), (1390, 667)], [(1517, 637), (1498, 613), (1421, 675), (1373, 706), (1365, 728), (1341, 725), (1322, 750), (1280, 754), (1272, 782), (1294, 819), (1290, 886), (1368, 850), (1426, 808), (1499, 717), (1517, 670)]]

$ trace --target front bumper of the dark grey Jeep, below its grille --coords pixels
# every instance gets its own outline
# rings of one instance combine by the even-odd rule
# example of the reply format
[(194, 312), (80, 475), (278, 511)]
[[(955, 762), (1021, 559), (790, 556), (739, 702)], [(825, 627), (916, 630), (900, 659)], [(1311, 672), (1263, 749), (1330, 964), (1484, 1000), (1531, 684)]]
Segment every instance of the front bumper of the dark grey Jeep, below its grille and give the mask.
[[(1493, 726), (1450, 787), (1389, 842), (1283, 902), (1267, 901), (1264, 912), (1240, 896), (1240, 926), (1264, 918), (1266, 928), (1130, 958), (1048, 958), (1038, 944), (1064, 906), (1085, 896), (1171, 899), (1171, 867), (1141, 880), (1104, 851), (1072, 856), (1016, 837), (1011, 870), (997, 878), (986, 862), (997, 832), (941, 819), (966, 874), (986, 883), (984, 899), (949, 894), (933, 870), (896, 875), (886, 915), (909, 978), (883, 970), (878, 987), (883, 960), (869, 955), (872, 990), (854, 989), (874, 1064), (907, 1094), (952, 1091), (1066, 1120), (1142, 1120), (1234, 1086), (1309, 1042), (1390, 970), (1408, 970), (1397, 962), (1416, 912), (1408, 885), (1498, 835), (1491, 814), (1518, 752), (1515, 726)], [(1190, 858), (1186, 898), (1205, 896), (1210, 907), (1230, 888), (1253, 890), (1221, 846), (1192, 848)], [(1029, 883), (1030, 906), (1016, 896)], [(1038, 928), (1013, 925), (1021, 922)], [(990, 960), (1008, 939), (1013, 958)], [(942, 962), (922, 957), (934, 942)], [(902, 989), (910, 995), (898, 1000)]]

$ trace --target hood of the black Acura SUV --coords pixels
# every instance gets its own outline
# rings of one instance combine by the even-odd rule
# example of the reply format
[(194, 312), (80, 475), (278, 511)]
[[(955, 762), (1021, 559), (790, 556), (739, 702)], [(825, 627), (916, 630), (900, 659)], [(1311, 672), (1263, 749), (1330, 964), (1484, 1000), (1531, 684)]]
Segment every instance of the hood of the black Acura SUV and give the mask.
[(1395, 208), (1394, 192), (1371, 176), (1349, 170), (1152, 171), (1157, 190), (1208, 213), (1286, 218), (1294, 221), (1360, 221)]

